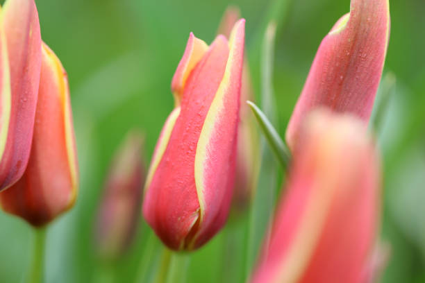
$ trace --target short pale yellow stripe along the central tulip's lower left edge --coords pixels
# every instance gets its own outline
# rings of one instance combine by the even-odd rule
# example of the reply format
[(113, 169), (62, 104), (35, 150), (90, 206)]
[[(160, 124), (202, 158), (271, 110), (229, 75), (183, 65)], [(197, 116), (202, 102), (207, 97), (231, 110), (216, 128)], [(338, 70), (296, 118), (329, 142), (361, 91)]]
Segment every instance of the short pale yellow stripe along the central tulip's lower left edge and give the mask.
[(161, 131), (158, 144), (156, 144), (155, 152), (153, 153), (151, 166), (149, 167), (149, 171), (146, 178), (146, 184), (144, 185), (144, 194), (146, 194), (147, 190), (149, 189), (149, 185), (151, 185), (153, 174), (155, 173), (156, 168), (158, 167), (161, 159), (163, 159), (165, 149), (167, 149), (169, 137), (171, 137), (174, 124), (177, 121), (178, 115), (180, 115), (180, 107), (175, 108), (171, 112), (171, 114), (169, 114), (167, 121), (165, 121), (165, 125), (163, 130)]

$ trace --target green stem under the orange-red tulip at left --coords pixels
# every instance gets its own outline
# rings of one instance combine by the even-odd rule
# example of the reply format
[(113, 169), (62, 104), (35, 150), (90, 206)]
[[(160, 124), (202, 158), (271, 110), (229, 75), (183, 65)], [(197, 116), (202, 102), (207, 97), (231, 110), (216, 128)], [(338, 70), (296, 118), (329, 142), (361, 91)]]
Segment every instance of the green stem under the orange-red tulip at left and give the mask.
[(44, 273), (44, 246), (46, 240), (46, 228), (34, 228), (33, 259), (28, 282), (43, 282)]

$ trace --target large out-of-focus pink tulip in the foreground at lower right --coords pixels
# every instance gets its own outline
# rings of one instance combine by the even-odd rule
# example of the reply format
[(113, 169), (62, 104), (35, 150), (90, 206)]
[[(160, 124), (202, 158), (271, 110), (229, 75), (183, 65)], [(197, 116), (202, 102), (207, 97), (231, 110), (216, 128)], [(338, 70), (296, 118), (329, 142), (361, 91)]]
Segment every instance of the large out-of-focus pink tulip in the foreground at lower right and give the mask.
[(252, 282), (360, 283), (380, 218), (380, 169), (363, 122), (315, 110)]

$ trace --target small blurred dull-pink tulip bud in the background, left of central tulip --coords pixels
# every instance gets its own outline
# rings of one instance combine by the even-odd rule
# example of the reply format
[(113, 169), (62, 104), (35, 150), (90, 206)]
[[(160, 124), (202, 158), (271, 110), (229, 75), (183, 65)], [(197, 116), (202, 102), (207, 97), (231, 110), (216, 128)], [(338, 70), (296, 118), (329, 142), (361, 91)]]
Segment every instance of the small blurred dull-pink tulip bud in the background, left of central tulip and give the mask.
[(107, 259), (122, 255), (138, 228), (145, 173), (143, 145), (139, 132), (129, 132), (110, 167), (96, 230), (99, 254)]

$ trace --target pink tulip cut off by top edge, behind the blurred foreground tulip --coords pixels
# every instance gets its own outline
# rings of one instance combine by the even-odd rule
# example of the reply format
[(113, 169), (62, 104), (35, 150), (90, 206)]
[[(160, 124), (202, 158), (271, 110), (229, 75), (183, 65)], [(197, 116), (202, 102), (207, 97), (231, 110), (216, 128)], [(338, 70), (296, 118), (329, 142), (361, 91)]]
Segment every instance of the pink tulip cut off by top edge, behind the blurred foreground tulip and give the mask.
[(351, 0), (350, 12), (336, 22), (316, 53), (286, 132), (291, 149), (303, 117), (320, 105), (368, 123), (389, 35), (388, 0)]

